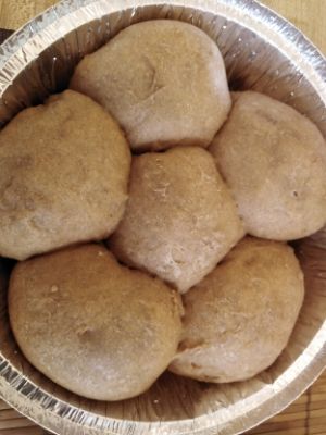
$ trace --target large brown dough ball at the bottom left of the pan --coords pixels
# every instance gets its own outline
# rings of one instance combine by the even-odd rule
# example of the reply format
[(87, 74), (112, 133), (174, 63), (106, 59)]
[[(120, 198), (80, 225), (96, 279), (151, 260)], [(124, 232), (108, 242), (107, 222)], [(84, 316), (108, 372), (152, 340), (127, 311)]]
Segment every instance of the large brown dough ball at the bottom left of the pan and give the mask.
[(10, 322), (25, 357), (57, 384), (97, 400), (151, 386), (176, 352), (180, 313), (174, 290), (97, 245), (18, 263), (10, 281)]

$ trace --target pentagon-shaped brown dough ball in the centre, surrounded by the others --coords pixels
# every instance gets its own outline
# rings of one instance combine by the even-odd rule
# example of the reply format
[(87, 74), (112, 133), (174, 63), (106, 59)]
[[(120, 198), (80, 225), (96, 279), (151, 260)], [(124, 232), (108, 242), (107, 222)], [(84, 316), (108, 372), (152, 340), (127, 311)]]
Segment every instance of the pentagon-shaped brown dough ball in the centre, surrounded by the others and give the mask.
[(110, 247), (121, 261), (185, 293), (243, 234), (212, 156), (177, 147), (134, 157), (128, 206)]

